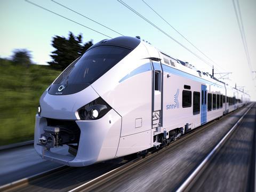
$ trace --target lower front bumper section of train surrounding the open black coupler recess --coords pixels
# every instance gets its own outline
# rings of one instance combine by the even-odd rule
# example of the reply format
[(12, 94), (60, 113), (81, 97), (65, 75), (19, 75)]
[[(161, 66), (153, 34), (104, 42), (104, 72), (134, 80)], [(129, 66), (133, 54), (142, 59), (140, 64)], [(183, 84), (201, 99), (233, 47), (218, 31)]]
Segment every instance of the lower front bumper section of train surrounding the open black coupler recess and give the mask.
[[(95, 120), (67, 121), (36, 115), (34, 148), (44, 159), (69, 166), (106, 161), (116, 157), (121, 122), (114, 109)], [(59, 132), (55, 131), (58, 127)]]

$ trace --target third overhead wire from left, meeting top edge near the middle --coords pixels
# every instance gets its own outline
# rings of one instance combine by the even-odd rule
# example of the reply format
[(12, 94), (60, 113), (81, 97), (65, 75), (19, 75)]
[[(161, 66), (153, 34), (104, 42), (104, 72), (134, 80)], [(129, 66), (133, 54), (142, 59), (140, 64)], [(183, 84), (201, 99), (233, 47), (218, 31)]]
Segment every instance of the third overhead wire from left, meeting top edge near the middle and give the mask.
[(151, 26), (155, 27), (156, 29), (158, 29), (159, 31), (161, 31), (163, 34), (165, 34), (167, 37), (171, 38), (175, 43), (178, 43), (180, 46), (182, 46), (184, 49), (186, 49), (187, 51), (189, 51), (190, 53), (192, 53), (193, 55), (195, 55), (198, 59), (200, 59), (201, 61), (203, 61), (204, 63), (206, 63), (207, 65), (209, 65), (210, 67), (212, 67), (213, 65), (211, 63), (209, 63), (208, 61), (206, 61), (205, 59), (203, 59), (202, 57), (200, 57), (199, 55), (197, 55), (196, 53), (194, 53), (193, 51), (191, 51), (190, 49), (188, 49), (188, 47), (186, 47), (185, 45), (183, 45), (182, 43), (180, 43), (179, 41), (177, 41), (175, 38), (173, 38), (171, 35), (167, 34), (164, 30), (162, 30), (161, 28), (159, 28), (158, 26), (156, 26), (153, 22), (149, 21), (147, 18), (143, 17), (143, 15), (141, 15), (139, 12), (135, 11), (134, 9), (132, 9), (132, 7), (130, 7), (129, 5), (127, 5), (126, 3), (124, 3), (122, 0), (117, 0), (119, 3), (121, 3), (122, 5), (124, 5), (125, 7), (127, 7), (127, 9), (131, 10), (133, 13), (137, 14), (140, 18), (142, 18), (143, 20), (147, 21)]

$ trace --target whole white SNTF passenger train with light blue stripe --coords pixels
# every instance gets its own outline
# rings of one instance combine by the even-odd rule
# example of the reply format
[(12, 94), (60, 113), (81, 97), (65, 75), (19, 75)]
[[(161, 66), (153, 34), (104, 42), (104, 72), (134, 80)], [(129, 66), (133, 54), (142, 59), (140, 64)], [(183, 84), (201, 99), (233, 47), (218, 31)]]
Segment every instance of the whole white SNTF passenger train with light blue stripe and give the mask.
[[(86, 166), (162, 143), (233, 111), (250, 96), (133, 37), (105, 39), (42, 94), (35, 149)], [(54, 150), (68, 145), (68, 155)]]

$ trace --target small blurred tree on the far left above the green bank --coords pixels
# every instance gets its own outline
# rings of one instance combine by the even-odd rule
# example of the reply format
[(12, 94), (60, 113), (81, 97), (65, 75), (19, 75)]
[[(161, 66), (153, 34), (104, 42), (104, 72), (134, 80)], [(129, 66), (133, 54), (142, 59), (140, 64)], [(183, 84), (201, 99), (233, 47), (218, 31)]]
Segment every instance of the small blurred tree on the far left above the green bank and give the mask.
[(12, 55), (12, 61), (17, 65), (29, 66), (31, 62), (31, 51), (26, 49), (15, 49)]

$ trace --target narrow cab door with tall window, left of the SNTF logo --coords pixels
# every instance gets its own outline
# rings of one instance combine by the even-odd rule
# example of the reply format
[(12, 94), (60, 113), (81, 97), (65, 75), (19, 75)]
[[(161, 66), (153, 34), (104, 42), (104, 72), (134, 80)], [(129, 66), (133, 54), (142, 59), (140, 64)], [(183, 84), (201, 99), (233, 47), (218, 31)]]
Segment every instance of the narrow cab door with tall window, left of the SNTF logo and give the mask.
[(151, 60), (153, 66), (152, 83), (152, 129), (162, 126), (163, 70), (160, 61)]

